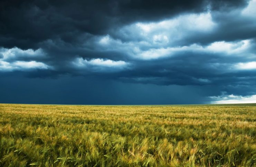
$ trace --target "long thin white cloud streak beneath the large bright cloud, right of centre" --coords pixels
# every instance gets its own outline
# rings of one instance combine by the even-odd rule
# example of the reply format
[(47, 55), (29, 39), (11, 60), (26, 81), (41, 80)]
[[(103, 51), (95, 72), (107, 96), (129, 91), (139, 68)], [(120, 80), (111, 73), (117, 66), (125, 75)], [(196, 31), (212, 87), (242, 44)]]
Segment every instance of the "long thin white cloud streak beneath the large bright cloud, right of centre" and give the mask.
[[(102, 39), (105, 39), (106, 37), (103, 37)], [(184, 52), (197, 52), (197, 53), (206, 53), (206, 54), (223, 54), (225, 55), (241, 55), (244, 57), (249, 57), (253, 53), (247, 53), (247, 55), (242, 55), (245, 52), (247, 52), (248, 48), (251, 47), (250, 40), (242, 40), (242, 41), (235, 41), (235, 42), (225, 42), (225, 41), (217, 41), (214, 43), (210, 43), (207, 46), (201, 46), (199, 44), (191, 44), (188, 46), (176, 46), (176, 47), (157, 47), (157, 48), (152, 48), (148, 47), (148, 49), (143, 48), (143, 44), (138, 45), (135, 44), (130, 44), (130, 43), (122, 43), (120, 41), (115, 41), (114, 39), (110, 38), (109, 36), (107, 37), (108, 42), (111, 42), (114, 44), (114, 46), (118, 46), (120, 48), (120, 51), (123, 50), (123, 47), (127, 49), (126, 54), (129, 55), (130, 57), (137, 58), (137, 59), (145, 59), (145, 60), (150, 60), (150, 59), (158, 59), (158, 58), (163, 58), (163, 57), (170, 57), (170, 56), (175, 56), (179, 55), (180, 53)], [(154, 41), (168, 41), (168, 38), (166, 36), (153, 36)], [(152, 44), (154, 45), (154, 44)], [(141, 46), (141, 48), (139, 47)], [(104, 49), (104, 48), (103, 48)], [(116, 51), (116, 48), (110, 48), (110, 47), (105, 47), (105, 49), (110, 50), (113, 49), (113, 51)]]

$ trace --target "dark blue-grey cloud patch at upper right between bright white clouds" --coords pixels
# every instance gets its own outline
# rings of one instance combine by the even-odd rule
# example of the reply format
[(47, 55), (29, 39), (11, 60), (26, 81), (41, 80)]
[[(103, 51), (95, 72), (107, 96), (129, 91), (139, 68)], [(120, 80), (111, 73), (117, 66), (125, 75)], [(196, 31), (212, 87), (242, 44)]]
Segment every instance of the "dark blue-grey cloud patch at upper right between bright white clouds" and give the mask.
[[(200, 43), (206, 45), (215, 41), (237, 41), (256, 38), (255, 17), (248, 17), (241, 11), (212, 12), (212, 20), (218, 23), (214, 32), (203, 35), (191, 35), (185, 44)], [(252, 14), (253, 15), (253, 14)], [(179, 41), (183, 43), (183, 41)]]

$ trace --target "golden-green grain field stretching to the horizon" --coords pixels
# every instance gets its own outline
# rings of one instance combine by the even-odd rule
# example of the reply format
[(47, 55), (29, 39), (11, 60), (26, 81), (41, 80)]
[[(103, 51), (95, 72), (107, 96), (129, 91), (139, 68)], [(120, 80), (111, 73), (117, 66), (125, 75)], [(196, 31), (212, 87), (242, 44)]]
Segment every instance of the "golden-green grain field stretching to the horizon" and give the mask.
[(256, 166), (256, 104), (0, 104), (0, 166)]

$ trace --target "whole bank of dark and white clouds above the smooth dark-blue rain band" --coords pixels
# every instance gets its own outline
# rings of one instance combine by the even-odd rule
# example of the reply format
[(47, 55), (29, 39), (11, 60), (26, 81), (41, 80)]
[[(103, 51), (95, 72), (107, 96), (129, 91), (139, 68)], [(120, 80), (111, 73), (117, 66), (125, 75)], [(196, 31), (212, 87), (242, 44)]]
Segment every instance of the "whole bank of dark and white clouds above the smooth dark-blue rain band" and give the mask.
[(0, 72), (214, 86), (214, 103), (256, 102), (255, 8), (256, 0), (1, 1)]

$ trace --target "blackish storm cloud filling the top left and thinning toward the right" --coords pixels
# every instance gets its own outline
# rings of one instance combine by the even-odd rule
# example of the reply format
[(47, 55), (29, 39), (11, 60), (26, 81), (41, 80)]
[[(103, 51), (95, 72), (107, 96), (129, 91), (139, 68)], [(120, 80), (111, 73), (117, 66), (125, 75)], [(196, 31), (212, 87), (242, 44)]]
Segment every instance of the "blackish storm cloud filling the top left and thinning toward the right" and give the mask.
[(138, 21), (157, 21), (185, 12), (244, 7), (247, 1), (1, 1), (3, 47), (38, 48), (58, 39), (76, 44), (84, 33), (106, 34), (110, 29)]

